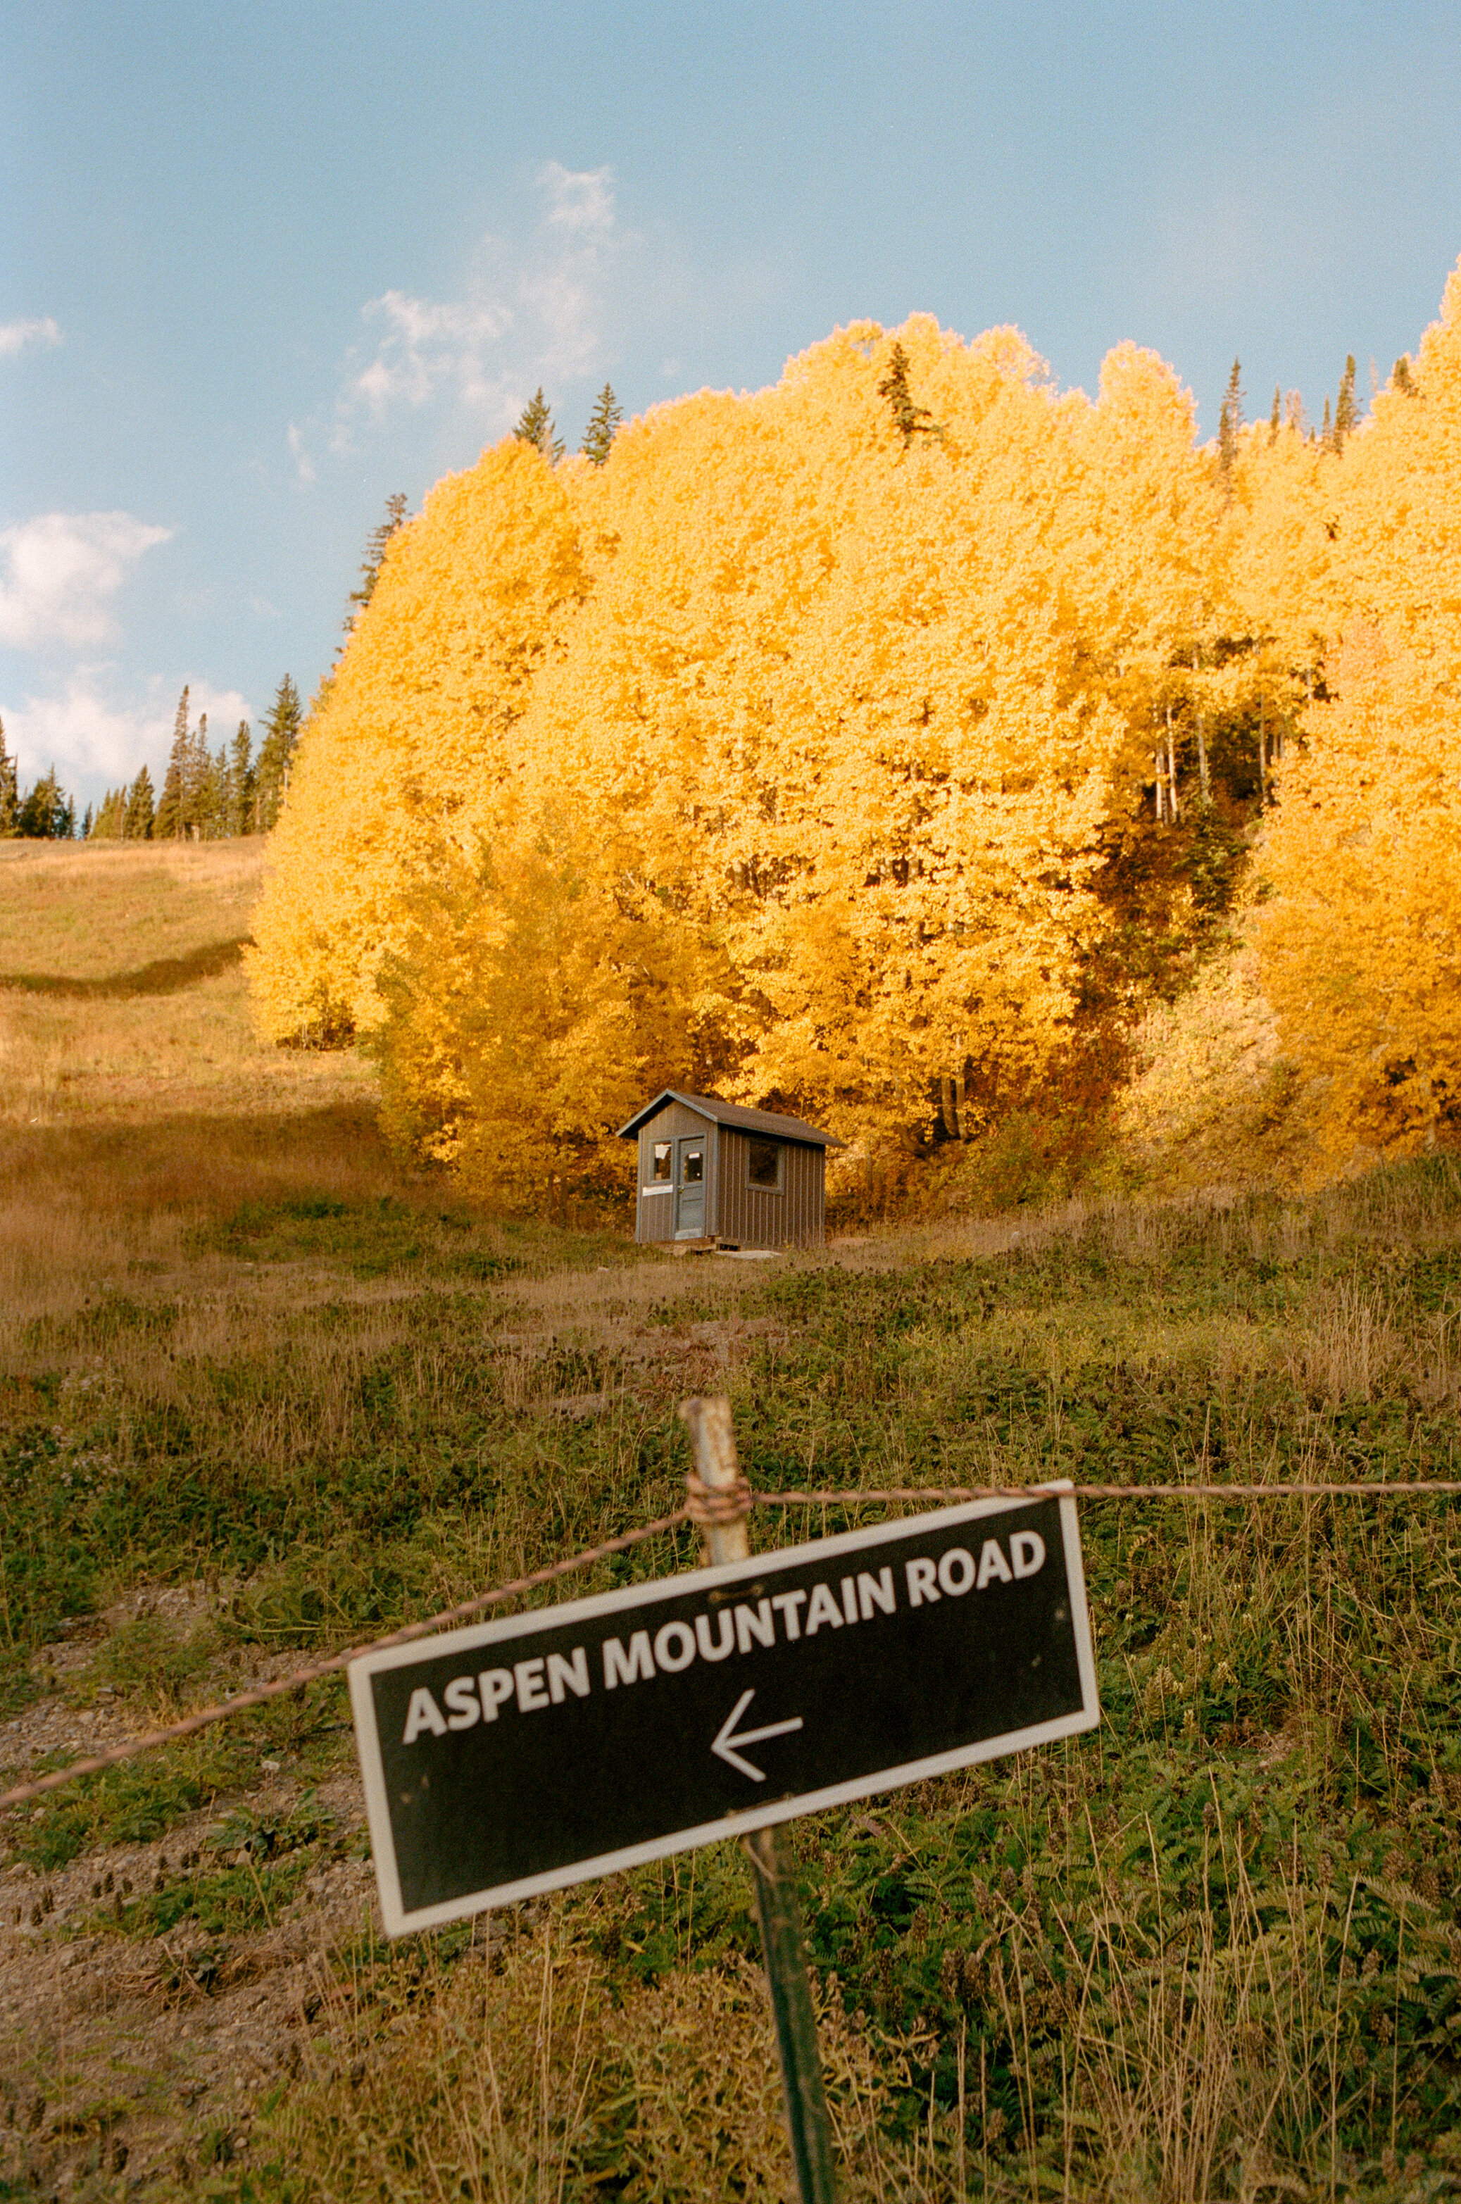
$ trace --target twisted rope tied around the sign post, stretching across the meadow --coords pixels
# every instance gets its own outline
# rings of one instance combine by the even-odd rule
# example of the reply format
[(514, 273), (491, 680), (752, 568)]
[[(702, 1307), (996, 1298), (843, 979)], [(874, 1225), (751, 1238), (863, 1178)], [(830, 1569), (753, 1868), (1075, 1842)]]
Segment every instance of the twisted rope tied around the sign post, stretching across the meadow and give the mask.
[(212, 1728), (216, 1721), (229, 1721), (234, 1715), (245, 1715), (249, 1708), (267, 1706), (271, 1699), (286, 1699), (291, 1693), (304, 1690), (309, 1684), (317, 1684), (328, 1675), (339, 1675), (359, 1660), (364, 1653), (383, 1653), (388, 1646), (412, 1644), (416, 1638), (430, 1638), (432, 1631), (450, 1629), (456, 1622), (469, 1622), (474, 1616), (485, 1613), (489, 1607), (502, 1607), (507, 1600), (522, 1598), (529, 1591), (538, 1591), (542, 1585), (551, 1585), (564, 1576), (573, 1576), (580, 1569), (593, 1567), (595, 1560), (608, 1560), (613, 1554), (628, 1554), (632, 1547), (643, 1545), (648, 1538), (659, 1538), (663, 1532), (679, 1530), (685, 1523), (710, 1525), (710, 1523), (736, 1523), (751, 1514), (756, 1508), (892, 1508), (892, 1505), (956, 1505), (961, 1501), (1029, 1501), (1045, 1499), (1051, 1494), (1071, 1494), (1075, 1501), (1278, 1501), (1278, 1499), (1443, 1499), (1461, 1497), (1461, 1479), (1415, 1479), (1410, 1483), (1390, 1481), (1382, 1477), (1355, 1479), (1353, 1483), (1168, 1483), (1168, 1485), (1075, 1485), (1069, 1479), (1058, 1479), (1051, 1483), (1033, 1485), (873, 1485), (873, 1488), (846, 1488), (846, 1490), (815, 1490), (815, 1492), (756, 1492), (745, 1479), (738, 1479), (729, 1490), (712, 1490), (703, 1485), (694, 1470), (685, 1477), (685, 1505), (677, 1508), (672, 1514), (657, 1516), (652, 1523), (641, 1523), (637, 1530), (626, 1530), (617, 1538), (604, 1538), (599, 1545), (588, 1545), (580, 1554), (569, 1554), (564, 1560), (546, 1563), (542, 1569), (531, 1569), (527, 1576), (513, 1576), (507, 1585), (496, 1585), (491, 1591), (478, 1591), (469, 1600), (458, 1600), (456, 1607), (443, 1607), (434, 1616), (425, 1616), (421, 1622), (408, 1622), (399, 1631), (388, 1631), (383, 1638), (372, 1638), (366, 1644), (348, 1646), (344, 1653), (331, 1653), (326, 1660), (311, 1662), (309, 1668), (293, 1668), (289, 1675), (273, 1677), (267, 1684), (251, 1684), (247, 1690), (238, 1690), (227, 1699), (218, 1699), (214, 1706), (194, 1708), (190, 1715), (181, 1715), (176, 1721), (163, 1724), (156, 1730), (145, 1730), (139, 1737), (126, 1737), (117, 1746), (108, 1746), (104, 1752), (90, 1752), (84, 1759), (71, 1761), (66, 1768), (53, 1768), (44, 1776), (35, 1776), (29, 1783), (18, 1783), (7, 1792), (0, 1792), (0, 1812), (13, 1807), (31, 1805), (35, 1798), (46, 1796), (46, 1792), (62, 1790), (68, 1783), (77, 1783), (82, 1776), (101, 1774), (106, 1768), (117, 1768), (121, 1761), (134, 1761), (143, 1752), (156, 1752), (163, 1746), (181, 1743), (185, 1737), (196, 1737), (198, 1730)]

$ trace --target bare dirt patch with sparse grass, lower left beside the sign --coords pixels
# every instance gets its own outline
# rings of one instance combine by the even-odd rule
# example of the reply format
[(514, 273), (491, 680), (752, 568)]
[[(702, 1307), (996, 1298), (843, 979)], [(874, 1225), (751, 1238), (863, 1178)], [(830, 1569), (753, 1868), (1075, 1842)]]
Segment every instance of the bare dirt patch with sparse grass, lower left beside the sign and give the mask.
[[(183, 1585), (134, 1591), (66, 1629), (35, 1662), (48, 1688), (0, 1728), (0, 1783), (145, 1728), (137, 1697), (97, 1684), (108, 1646), (152, 1622), (187, 1642), (214, 1613), (216, 1598)], [(192, 1697), (300, 1657), (223, 1649)], [(46, 1807), (4, 1816), (0, 2193), (4, 2182), (134, 2191), (247, 2164), (260, 2096), (313, 2056), (311, 2021), (342, 1946), (379, 1935), (344, 1737), (328, 1757), (311, 1770), (262, 1754), (256, 1781), (170, 1816), (150, 1843), (97, 1845), (57, 1867), (24, 1858)]]

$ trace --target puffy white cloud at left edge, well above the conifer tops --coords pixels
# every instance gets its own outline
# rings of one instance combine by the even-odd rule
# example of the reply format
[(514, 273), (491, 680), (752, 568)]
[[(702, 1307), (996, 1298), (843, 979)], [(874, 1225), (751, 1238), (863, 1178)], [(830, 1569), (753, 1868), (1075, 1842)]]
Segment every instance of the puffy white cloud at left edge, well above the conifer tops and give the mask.
[(0, 644), (93, 648), (117, 635), (106, 599), (172, 529), (132, 514), (40, 514), (0, 529)]

